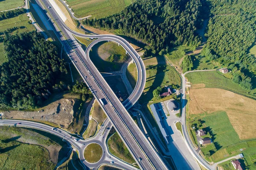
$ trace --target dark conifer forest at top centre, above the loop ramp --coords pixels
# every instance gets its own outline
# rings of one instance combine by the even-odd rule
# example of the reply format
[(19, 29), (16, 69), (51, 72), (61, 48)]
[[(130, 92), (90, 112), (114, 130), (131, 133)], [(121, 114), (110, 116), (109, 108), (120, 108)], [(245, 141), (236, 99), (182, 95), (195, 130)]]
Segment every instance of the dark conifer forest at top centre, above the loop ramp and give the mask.
[(145, 55), (163, 54), (175, 45), (201, 43), (201, 38), (195, 35), (201, 25), (201, 12), (200, 0), (137, 0), (119, 14), (86, 19), (83, 24), (119, 29), (122, 34), (147, 44)]

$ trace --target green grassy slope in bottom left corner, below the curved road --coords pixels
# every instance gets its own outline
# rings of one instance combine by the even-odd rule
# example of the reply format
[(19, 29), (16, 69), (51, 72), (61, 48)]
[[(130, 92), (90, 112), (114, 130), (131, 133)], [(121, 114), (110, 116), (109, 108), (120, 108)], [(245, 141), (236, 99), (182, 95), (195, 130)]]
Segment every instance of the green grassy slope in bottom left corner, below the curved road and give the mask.
[(49, 133), (1, 126), (0, 169), (54, 169), (67, 154), (67, 148), (61, 146), (67, 147), (61, 138)]

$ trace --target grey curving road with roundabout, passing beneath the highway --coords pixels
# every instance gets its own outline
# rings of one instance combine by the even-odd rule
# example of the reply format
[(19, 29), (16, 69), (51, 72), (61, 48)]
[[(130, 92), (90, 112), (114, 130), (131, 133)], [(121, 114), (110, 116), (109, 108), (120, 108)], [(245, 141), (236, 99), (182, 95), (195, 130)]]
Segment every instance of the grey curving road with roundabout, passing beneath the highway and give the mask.
[[(64, 140), (69, 142), (73, 147), (75, 147), (79, 151), (79, 158), (86, 165), (85, 168), (87, 168), (88, 170), (93, 169), (93, 168), (97, 169), (102, 164), (109, 164), (111, 166), (119, 167), (119, 168), (122, 168), (125, 170), (138, 170), (136, 167), (133, 167), (132, 165), (120, 160), (119, 158), (116, 158), (115, 156), (111, 155), (111, 153), (109, 153), (108, 146), (106, 144), (106, 139), (107, 139), (109, 131), (111, 130), (112, 125), (108, 119), (106, 119), (106, 121), (102, 124), (102, 127), (100, 128), (99, 132), (97, 133), (97, 135), (94, 138), (90, 138), (88, 140), (80, 139), (78, 141), (74, 140), (76, 137), (70, 135), (69, 133), (67, 133), (64, 130), (50, 127), (48, 125), (33, 122), (33, 121), (4, 119), (4, 120), (0, 120), (0, 125), (1, 126), (9, 125), (9, 126), (15, 126), (15, 127), (29, 127), (29, 128), (33, 128), (33, 129), (43, 130), (48, 133), (52, 133), (53, 135), (59, 136), (60, 138), (63, 138)], [(54, 129), (54, 130), (52, 130), (52, 129)], [(61, 133), (57, 132), (56, 130), (60, 130)], [(91, 164), (91, 163), (85, 161), (85, 159), (84, 159), (84, 148), (87, 147), (87, 145), (89, 145), (91, 143), (99, 144), (103, 150), (102, 158), (94, 164)], [(114, 161), (113, 164), (110, 163), (112, 161)]]

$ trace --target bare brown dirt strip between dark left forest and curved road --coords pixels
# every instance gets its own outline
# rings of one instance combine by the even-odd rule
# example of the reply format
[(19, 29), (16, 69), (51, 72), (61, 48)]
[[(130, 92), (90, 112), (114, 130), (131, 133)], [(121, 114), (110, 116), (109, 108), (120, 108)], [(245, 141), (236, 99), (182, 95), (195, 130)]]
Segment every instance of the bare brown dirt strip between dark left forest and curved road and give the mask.
[(48, 121), (67, 128), (73, 120), (73, 99), (61, 99), (43, 107), (37, 112), (6, 111), (0, 112), (2, 118), (25, 119), (32, 121)]

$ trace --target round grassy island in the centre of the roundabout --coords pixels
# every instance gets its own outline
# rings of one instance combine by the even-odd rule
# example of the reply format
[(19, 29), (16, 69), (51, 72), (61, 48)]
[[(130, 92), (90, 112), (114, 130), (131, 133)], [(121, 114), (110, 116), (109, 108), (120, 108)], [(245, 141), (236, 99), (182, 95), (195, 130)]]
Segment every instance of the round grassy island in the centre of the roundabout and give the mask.
[(102, 157), (103, 151), (99, 144), (92, 143), (89, 144), (84, 149), (84, 158), (87, 162), (95, 163)]

